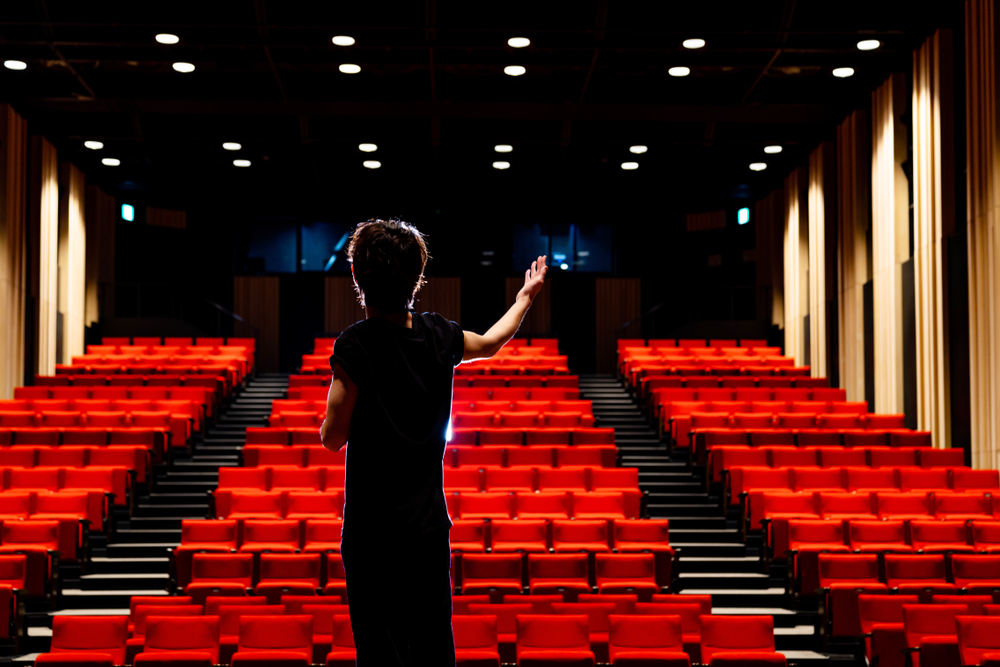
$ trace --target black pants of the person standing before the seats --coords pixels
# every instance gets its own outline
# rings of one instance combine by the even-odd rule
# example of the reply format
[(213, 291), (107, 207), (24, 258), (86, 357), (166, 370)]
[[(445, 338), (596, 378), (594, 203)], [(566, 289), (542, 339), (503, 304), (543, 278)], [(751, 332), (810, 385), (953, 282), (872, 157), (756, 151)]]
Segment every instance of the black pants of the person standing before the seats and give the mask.
[(442, 528), (392, 546), (344, 538), (358, 667), (455, 665), (448, 537)]

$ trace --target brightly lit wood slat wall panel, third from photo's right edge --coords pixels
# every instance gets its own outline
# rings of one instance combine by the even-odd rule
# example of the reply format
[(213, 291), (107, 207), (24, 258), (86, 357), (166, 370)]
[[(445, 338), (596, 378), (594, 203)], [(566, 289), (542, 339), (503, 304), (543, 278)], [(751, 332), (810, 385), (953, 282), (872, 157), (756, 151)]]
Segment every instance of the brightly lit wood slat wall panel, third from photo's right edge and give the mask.
[(891, 75), (872, 93), (872, 281), (875, 409), (903, 412), (902, 265), (909, 259), (906, 78)]

